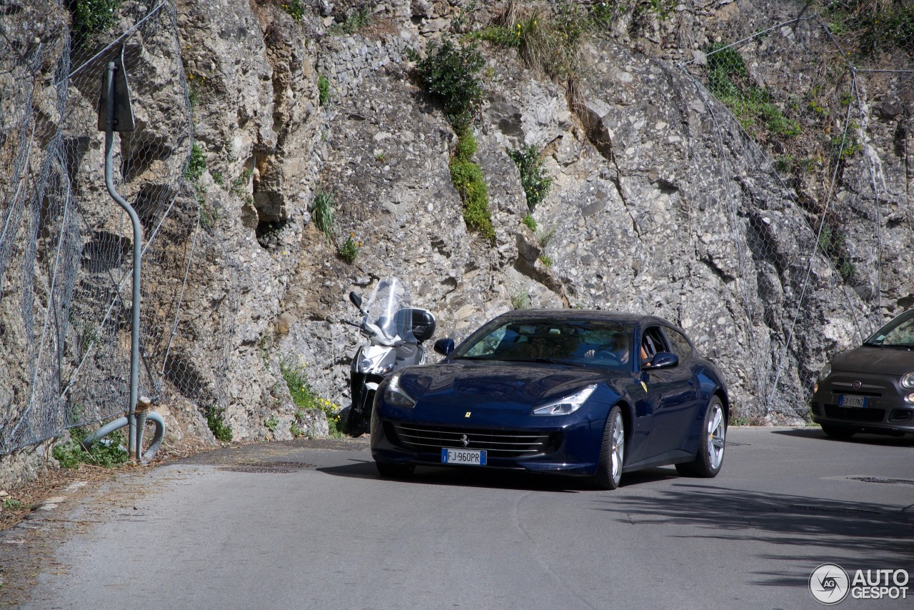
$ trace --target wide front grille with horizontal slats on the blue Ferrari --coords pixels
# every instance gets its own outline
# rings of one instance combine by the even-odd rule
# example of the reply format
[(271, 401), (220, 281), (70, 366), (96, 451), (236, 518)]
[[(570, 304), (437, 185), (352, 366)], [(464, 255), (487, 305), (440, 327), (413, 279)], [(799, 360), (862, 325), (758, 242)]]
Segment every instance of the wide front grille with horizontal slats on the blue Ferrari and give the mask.
[[(386, 432), (393, 444), (416, 453), (440, 453), (442, 448), (484, 449), (490, 457), (535, 457), (554, 452), (562, 442), (561, 433), (418, 423), (392, 423)], [(464, 435), (467, 444), (462, 442)]]

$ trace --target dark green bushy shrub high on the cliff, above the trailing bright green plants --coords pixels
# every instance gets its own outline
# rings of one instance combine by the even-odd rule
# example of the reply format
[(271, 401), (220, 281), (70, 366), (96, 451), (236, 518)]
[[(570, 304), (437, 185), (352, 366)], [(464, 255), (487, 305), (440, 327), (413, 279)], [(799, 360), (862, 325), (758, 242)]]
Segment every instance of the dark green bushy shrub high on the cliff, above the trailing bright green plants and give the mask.
[(483, 102), (479, 70), (484, 63), (477, 48), (462, 48), (448, 39), (431, 42), (428, 54), (416, 64), (422, 87), (441, 102), (455, 130), (473, 123)]

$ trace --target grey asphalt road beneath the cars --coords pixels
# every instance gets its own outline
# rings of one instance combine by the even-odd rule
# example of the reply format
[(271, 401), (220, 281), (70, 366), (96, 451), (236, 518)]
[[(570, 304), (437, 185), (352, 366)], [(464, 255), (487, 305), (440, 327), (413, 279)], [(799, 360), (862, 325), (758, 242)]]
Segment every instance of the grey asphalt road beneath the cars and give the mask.
[[(914, 441), (734, 428), (714, 479), (611, 492), (364, 442), (247, 445), (101, 487), (23, 608), (817, 608), (813, 569), (914, 576)], [(912, 607), (909, 598), (837, 607)]]

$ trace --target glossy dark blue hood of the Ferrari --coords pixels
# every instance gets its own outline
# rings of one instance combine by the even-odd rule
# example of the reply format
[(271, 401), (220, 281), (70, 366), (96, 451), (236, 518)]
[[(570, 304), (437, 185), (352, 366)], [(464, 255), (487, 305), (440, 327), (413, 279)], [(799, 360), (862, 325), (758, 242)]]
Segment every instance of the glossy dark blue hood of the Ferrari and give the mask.
[(399, 385), (420, 403), (527, 408), (607, 379), (599, 369), (529, 363), (454, 362), (404, 370)]

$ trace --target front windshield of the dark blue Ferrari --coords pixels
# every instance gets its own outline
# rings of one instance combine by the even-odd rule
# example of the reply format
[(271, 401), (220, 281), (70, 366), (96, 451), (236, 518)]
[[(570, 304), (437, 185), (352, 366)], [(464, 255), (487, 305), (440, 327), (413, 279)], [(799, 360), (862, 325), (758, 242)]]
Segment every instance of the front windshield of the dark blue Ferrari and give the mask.
[(632, 336), (632, 326), (607, 320), (494, 320), (452, 358), (632, 370)]

